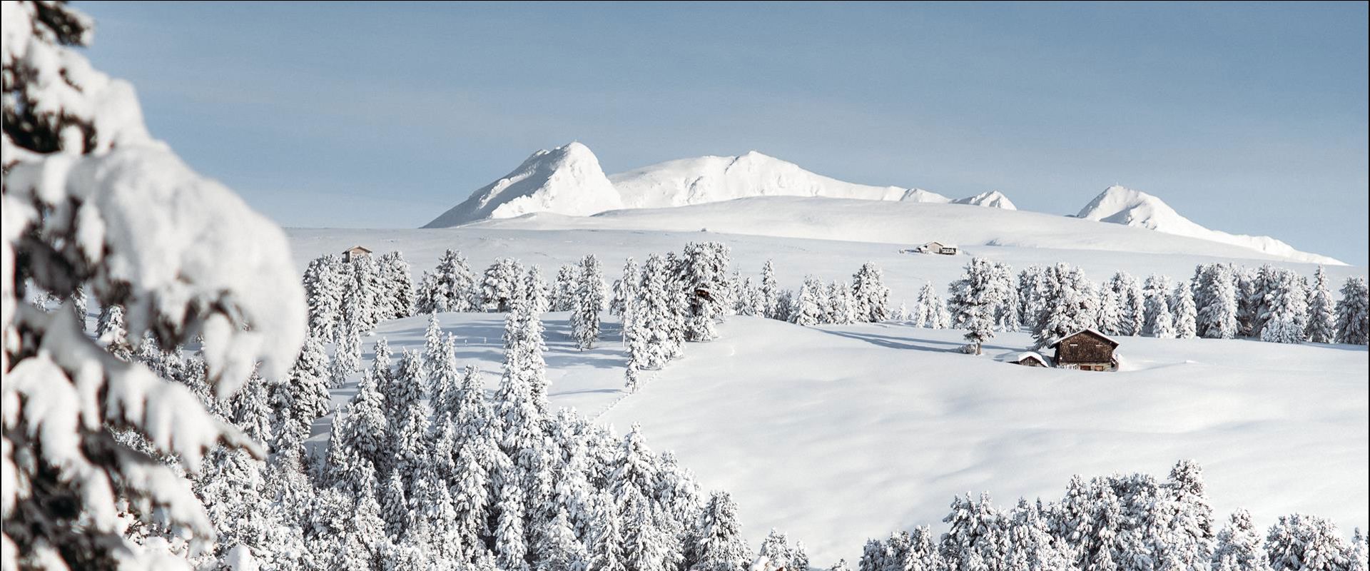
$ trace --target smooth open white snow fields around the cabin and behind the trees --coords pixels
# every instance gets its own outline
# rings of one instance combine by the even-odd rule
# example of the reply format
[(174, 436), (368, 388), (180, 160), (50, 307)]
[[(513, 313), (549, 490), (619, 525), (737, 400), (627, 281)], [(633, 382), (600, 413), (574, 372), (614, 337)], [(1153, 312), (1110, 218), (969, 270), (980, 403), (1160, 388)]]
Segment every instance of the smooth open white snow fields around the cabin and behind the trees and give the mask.
[[(752, 199), (689, 208), (748, 203), (760, 208), (774, 201), (815, 200)], [(906, 207), (936, 211), (918, 223), (947, 212), (975, 212), (995, 216), (996, 222), (1026, 215), (1086, 225), (997, 208)], [(532, 216), (540, 218), (596, 219)], [(952, 226), (955, 220), (945, 227)], [(1143, 229), (1078, 227), (1108, 229), (1097, 240), (1117, 240), (1119, 246), (1123, 236), (1164, 237), (1171, 245), (1203, 245), (1245, 257), (1221, 257), (1215, 251), (1145, 253), (960, 241), (970, 255), (1015, 268), (1078, 264), (1095, 281), (1117, 270), (1182, 279), (1200, 262), (1255, 266), (1273, 260), (1245, 248)], [(808, 240), (697, 229), (519, 230), (482, 225), (438, 230), (293, 229), (288, 234), (301, 271), (318, 255), (363, 244), (377, 252), (403, 251), (415, 274), (430, 270), (445, 248), (460, 249), (477, 271), (496, 257), (515, 256), (541, 266), (544, 274), (595, 253), (614, 268), (610, 279), (618, 278), (625, 256), (643, 260), (651, 252), (680, 251), (686, 241), (719, 240), (732, 248), (743, 275), (755, 279), (762, 263), (773, 259), (777, 279), (790, 289), (808, 274), (823, 281), (849, 279), (863, 262), (874, 262), (891, 288), (892, 307), (917, 299), (927, 281), (945, 293), (947, 283), (969, 260), (900, 252), (915, 241)], [(1043, 230), (1040, 236), (1055, 233)], [(1304, 275), (1315, 270), (1307, 263), (1274, 263)], [(1333, 283), (1366, 275), (1363, 267), (1326, 271)], [(975, 357), (955, 351), (963, 344), (956, 330), (892, 323), (806, 329), (734, 316), (721, 326), (719, 340), (688, 344), (684, 359), (645, 374), (641, 392), (627, 394), (622, 390), (625, 355), (615, 319), (607, 318), (601, 342), (586, 352), (575, 351), (567, 314), (547, 314), (544, 320), (553, 407), (574, 407), (612, 423), (621, 433), (633, 422), (641, 423), (649, 445), (675, 451), (706, 490), (733, 493), (743, 531), (754, 546), (778, 527), (803, 540), (817, 566), (826, 567), (837, 557), (856, 560), (867, 537), (888, 537), (897, 529), (930, 524), (944, 531), (941, 518), (958, 493), (988, 490), (1000, 505), (1012, 505), (1018, 496), (1054, 500), (1071, 474), (1145, 471), (1163, 477), (1175, 460), (1186, 457), (1206, 468), (1219, 518), (1245, 507), (1262, 526), (1291, 512), (1332, 518), (1348, 535), (1352, 527), (1367, 526), (1370, 371), (1360, 346), (1122, 337), (1122, 371), (1084, 372), (995, 360), (1029, 348), (1026, 333), (1000, 333), (988, 342), (986, 355)], [(444, 314), (440, 323), (458, 337), (458, 359), (484, 370), (493, 389), (503, 359), (503, 315)], [(382, 323), (364, 340), (366, 351), (379, 337), (386, 337), (395, 351), (419, 349), (425, 325), (426, 316)], [(334, 401), (342, 403), (353, 392), (355, 379), (334, 392)], [(326, 445), (327, 423), (321, 419), (315, 424), (314, 445)]]

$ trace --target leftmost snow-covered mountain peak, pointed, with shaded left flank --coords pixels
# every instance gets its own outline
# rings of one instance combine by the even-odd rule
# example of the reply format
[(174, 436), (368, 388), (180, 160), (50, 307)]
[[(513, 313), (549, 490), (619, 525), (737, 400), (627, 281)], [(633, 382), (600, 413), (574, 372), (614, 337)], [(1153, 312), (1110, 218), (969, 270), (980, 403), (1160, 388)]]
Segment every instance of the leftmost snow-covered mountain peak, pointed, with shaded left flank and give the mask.
[(489, 218), (529, 212), (584, 216), (622, 208), (618, 192), (604, 177), (589, 147), (570, 142), (538, 151), (512, 173), (471, 193), (423, 227), (448, 227)]

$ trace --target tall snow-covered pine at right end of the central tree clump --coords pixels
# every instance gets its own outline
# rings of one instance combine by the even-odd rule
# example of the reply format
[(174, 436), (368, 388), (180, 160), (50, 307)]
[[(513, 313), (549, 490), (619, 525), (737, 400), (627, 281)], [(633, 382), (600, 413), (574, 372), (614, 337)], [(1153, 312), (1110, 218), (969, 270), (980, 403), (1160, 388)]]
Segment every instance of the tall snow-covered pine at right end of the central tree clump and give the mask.
[(685, 341), (712, 341), (715, 322), (727, 315), (727, 266), (723, 242), (689, 242), (678, 259), (675, 282), (685, 294)]

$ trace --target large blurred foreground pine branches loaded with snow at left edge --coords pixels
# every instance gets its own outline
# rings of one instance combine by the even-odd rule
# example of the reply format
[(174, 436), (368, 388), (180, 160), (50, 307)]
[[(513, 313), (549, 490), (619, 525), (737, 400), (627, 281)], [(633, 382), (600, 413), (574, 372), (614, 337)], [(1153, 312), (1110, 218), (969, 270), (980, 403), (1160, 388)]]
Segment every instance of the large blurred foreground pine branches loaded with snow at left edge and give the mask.
[(207, 548), (211, 519), (181, 472), (156, 459), (175, 456), (197, 474), (216, 442), (260, 448), (185, 386), (110, 355), (71, 311), (22, 300), (30, 286), (70, 297), (86, 285), (101, 307), (123, 307), (132, 340), (147, 333), (170, 348), (204, 331), (207, 377), (229, 397), (259, 361), (263, 377), (285, 374), (304, 340), (289, 245), (152, 140), (133, 88), (77, 51), (92, 40), (89, 16), (7, 1), (3, 22), (4, 566), (140, 567), (144, 550), (125, 523), (153, 518)]

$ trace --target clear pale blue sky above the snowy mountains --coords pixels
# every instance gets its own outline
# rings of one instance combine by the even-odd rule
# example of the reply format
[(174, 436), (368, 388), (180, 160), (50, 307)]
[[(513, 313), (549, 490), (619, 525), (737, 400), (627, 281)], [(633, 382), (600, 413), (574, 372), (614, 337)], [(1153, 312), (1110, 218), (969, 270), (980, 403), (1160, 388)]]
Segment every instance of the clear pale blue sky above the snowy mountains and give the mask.
[(153, 134), (286, 226), (414, 227), (580, 140), (1367, 260), (1367, 4), (75, 3)]

